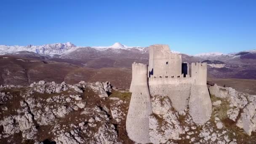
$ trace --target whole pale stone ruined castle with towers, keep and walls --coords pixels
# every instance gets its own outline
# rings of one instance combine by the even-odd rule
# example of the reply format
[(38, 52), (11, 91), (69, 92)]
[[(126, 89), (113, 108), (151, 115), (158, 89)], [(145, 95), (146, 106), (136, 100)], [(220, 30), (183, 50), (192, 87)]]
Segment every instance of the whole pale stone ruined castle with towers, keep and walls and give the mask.
[(126, 131), (137, 143), (149, 143), (150, 96), (168, 96), (172, 106), (189, 115), (198, 125), (211, 117), (211, 99), (206, 85), (207, 63), (182, 63), (181, 54), (171, 53), (168, 45), (149, 46), (149, 65), (132, 64), (132, 93)]

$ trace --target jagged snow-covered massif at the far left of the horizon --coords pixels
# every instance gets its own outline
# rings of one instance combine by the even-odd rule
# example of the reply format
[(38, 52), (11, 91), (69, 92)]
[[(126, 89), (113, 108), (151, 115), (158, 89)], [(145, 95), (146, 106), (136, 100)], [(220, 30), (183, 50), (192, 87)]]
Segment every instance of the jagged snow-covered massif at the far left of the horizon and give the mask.
[(54, 44), (46, 44), (46, 45), (27, 45), (27, 46), (0, 45), (0, 54), (15, 53), (19, 51), (30, 51), (38, 54), (60, 54), (74, 47), (76, 46), (70, 42), (54, 43)]

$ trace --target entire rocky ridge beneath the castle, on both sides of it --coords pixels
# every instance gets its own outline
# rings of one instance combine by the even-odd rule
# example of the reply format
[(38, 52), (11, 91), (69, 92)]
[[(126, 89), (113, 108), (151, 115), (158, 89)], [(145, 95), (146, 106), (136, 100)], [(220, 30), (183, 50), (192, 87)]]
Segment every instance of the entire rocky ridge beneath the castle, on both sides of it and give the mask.
[[(213, 112), (196, 125), (187, 108), (182, 115), (167, 96), (151, 96), (150, 141), (240, 144), (256, 142), (256, 96), (217, 85), (209, 88)], [(0, 143), (128, 143), (125, 131), (131, 93), (109, 82), (0, 86)]]

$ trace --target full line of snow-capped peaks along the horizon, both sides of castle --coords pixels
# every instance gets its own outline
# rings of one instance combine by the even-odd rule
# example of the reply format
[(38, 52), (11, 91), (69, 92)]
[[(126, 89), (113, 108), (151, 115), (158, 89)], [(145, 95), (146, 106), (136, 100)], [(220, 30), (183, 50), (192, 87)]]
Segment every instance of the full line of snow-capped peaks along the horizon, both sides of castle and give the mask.
[[(19, 51), (29, 51), (38, 54), (45, 54), (45, 55), (54, 55), (58, 54), (64, 57), (72, 58), (71, 54), (76, 54), (80, 56), (99, 56), (104, 53), (104, 56), (107, 55), (116, 55), (116, 54), (125, 54), (129, 53), (128, 55), (135, 54), (136, 57), (139, 57), (139, 53), (145, 54), (148, 53), (148, 47), (140, 47), (140, 46), (127, 46), (121, 43), (114, 43), (110, 46), (93, 46), (93, 47), (84, 47), (84, 46), (76, 46), (70, 42), (67, 43), (54, 43), (54, 44), (46, 44), (46, 45), (27, 45), (27, 46), (8, 46), (8, 45), (0, 45), (0, 55), (7, 54), (7, 53), (17, 53)], [(172, 53), (180, 53), (179, 51), (171, 51)], [(209, 57), (220, 57), (220, 56), (233, 56), (233, 57), (240, 57), (244, 56), (245, 54), (256, 53), (256, 50), (249, 50), (249, 51), (241, 51), (238, 53), (220, 53), (220, 52), (210, 52), (210, 53), (200, 53), (195, 54), (195, 57), (200, 58), (209, 58)], [(120, 55), (121, 56), (121, 55)], [(254, 55), (253, 55), (254, 57)]]

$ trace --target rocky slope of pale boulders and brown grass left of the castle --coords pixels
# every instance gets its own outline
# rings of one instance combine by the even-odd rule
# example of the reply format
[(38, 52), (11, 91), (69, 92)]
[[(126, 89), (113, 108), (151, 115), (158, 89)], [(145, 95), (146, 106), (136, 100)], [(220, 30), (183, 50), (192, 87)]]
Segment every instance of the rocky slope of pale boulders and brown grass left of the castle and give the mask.
[[(92, 95), (86, 94), (88, 91), (92, 91)], [(118, 139), (117, 127), (113, 123), (124, 123), (121, 120), (125, 120), (126, 112), (121, 109), (124, 109), (122, 105), (126, 105), (127, 101), (107, 100), (111, 91), (109, 82), (81, 81), (75, 85), (67, 85), (65, 82), (46, 83), (41, 80), (29, 87), (2, 86), (0, 108), (5, 111), (0, 112), (0, 127), (3, 127), (3, 130), (0, 129), (0, 142), (14, 143), (16, 139), (13, 138), (19, 136), (21, 141), (34, 140), (38, 144), (39, 139), (51, 139), (61, 144), (122, 142)], [(92, 98), (98, 99), (99, 103), (91, 101)], [(13, 100), (18, 105), (10, 105)], [(102, 101), (104, 108), (100, 106)]]

